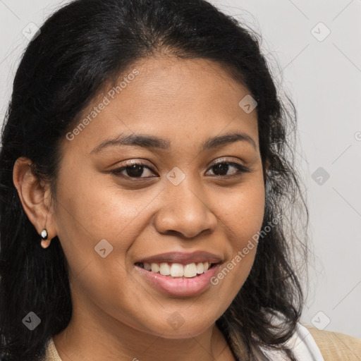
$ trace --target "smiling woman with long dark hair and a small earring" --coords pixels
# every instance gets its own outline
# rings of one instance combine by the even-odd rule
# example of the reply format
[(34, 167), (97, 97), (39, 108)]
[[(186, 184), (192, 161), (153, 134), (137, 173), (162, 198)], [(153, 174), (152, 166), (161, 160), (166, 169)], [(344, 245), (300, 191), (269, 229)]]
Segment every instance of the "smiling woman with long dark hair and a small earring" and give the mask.
[(57, 11), (2, 135), (1, 359), (327, 360), (286, 236), (294, 123), (207, 1)]

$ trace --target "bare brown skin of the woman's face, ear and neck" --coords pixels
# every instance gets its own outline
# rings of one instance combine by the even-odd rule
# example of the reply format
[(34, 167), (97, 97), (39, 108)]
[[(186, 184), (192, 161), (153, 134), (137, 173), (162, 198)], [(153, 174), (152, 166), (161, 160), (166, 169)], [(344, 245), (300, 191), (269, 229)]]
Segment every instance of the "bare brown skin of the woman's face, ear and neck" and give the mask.
[[(192, 297), (161, 293), (135, 262), (162, 252), (207, 250), (226, 265), (259, 231), (265, 193), (257, 109), (247, 114), (238, 106), (250, 92), (212, 61), (157, 57), (134, 68), (139, 75), (73, 140), (63, 140), (56, 202), (50, 202), (49, 185), (37, 182), (29, 159), (14, 166), (27, 216), (39, 234), (44, 226), (49, 233), (42, 246), (58, 235), (70, 266), (73, 317), (54, 336), (56, 349), (63, 361), (104, 355), (106, 360), (234, 360), (215, 322), (247, 279), (257, 247), (216, 286)], [(237, 141), (199, 151), (207, 138), (233, 132), (249, 135), (255, 147)], [(171, 147), (114, 146), (91, 154), (121, 133), (156, 135)], [(150, 169), (143, 168), (142, 178), (133, 182), (134, 172), (124, 170), (123, 177), (108, 172), (126, 160)], [(243, 164), (250, 172), (228, 166), (216, 176), (212, 166), (221, 161)], [(185, 174), (178, 185), (166, 178), (174, 167)], [(104, 238), (113, 251), (102, 258), (94, 246)], [(178, 329), (167, 322), (173, 312), (183, 317)]]

